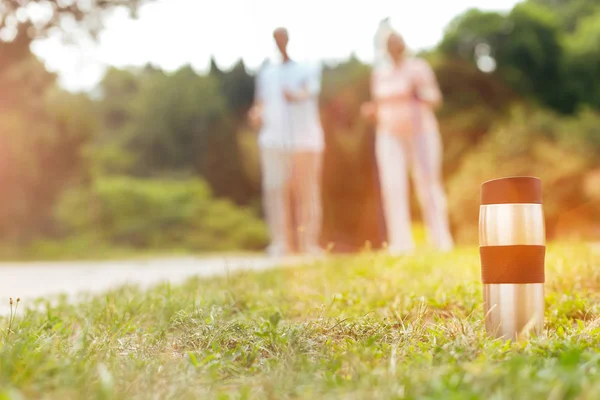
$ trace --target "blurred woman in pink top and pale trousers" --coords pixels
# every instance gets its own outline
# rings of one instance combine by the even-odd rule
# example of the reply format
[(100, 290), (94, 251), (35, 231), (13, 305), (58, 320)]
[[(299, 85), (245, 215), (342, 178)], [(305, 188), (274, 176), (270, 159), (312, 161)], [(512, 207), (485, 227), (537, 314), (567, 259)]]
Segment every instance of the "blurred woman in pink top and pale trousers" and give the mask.
[(363, 116), (375, 120), (375, 152), (387, 225), (388, 249), (403, 254), (414, 249), (411, 232), (408, 170), (427, 227), (437, 249), (454, 247), (442, 183), (442, 143), (434, 109), (442, 94), (429, 64), (407, 55), (402, 36), (391, 31), (385, 41), (389, 62), (373, 69), (373, 100)]

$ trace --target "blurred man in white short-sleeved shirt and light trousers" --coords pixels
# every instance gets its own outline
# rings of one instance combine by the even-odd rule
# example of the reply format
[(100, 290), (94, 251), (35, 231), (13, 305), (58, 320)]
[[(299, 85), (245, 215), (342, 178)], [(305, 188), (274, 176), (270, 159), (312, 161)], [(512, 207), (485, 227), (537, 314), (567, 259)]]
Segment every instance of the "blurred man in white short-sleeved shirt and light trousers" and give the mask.
[[(249, 113), (252, 124), (260, 127), (263, 206), (271, 233), (268, 252), (290, 253), (295, 234), (301, 253), (319, 254), (324, 149), (318, 106), (320, 69), (290, 58), (285, 28), (276, 29), (273, 37), (282, 60), (258, 74)], [(292, 211), (296, 224), (290, 223)]]

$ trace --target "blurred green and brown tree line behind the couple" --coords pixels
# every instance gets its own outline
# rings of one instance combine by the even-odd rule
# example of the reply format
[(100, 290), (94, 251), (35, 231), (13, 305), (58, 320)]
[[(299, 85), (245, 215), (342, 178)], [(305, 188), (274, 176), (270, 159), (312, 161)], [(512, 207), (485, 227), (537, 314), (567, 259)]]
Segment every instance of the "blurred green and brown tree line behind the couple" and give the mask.
[[(114, 188), (137, 185), (123, 184), (126, 178), (151, 182), (151, 189), (140, 186), (137, 195), (154, 196), (153, 207), (163, 204), (159, 198), (168, 199), (160, 193), (168, 184), (157, 182), (194, 182), (190, 187), (197, 189), (190, 193), (171, 188), (178, 200), (166, 202), (183, 204), (203, 196), (200, 203), (206, 207), (218, 203), (209, 207), (212, 211), (179, 209), (203, 215), (193, 229), (212, 226), (208, 232), (214, 237), (227, 236), (228, 229), (240, 231), (237, 224), (252, 225), (247, 237), (231, 246), (259, 248), (265, 232), (258, 221), (256, 132), (245, 117), (254, 93), (253, 73), (242, 61), (228, 70), (213, 61), (206, 72), (190, 66), (174, 73), (150, 65), (111, 68), (97, 99), (66, 93), (31, 53), (31, 41), (69, 12), (93, 35), (107, 7), (127, 4), (135, 10), (140, 2), (98, 1), (87, 11), (58, 3), (55, 20), (43, 26), (34, 29), (31, 21), (13, 26), (6, 19), (0, 26), (16, 32), (14, 39), (0, 42), (0, 240), (26, 246), (102, 226), (104, 236), (98, 240), (169, 246), (178, 239), (142, 240), (140, 235), (176, 225), (175, 237), (181, 237), (192, 229), (176, 209), (165, 211), (151, 228), (143, 226), (144, 218), (128, 219), (135, 209), (115, 211), (126, 206), (116, 200), (124, 192)], [(27, 6), (11, 4), (14, 12)], [(598, 43), (598, 1), (527, 0), (507, 13), (467, 11), (449, 24), (436, 48), (422, 54), (445, 95), (439, 112), (444, 175), (459, 241), (474, 240), (479, 184), (498, 174), (544, 179), (550, 235), (598, 233), (593, 224), (600, 217), (597, 198), (585, 185), (586, 176), (599, 167)], [(327, 65), (323, 74), (323, 241), (341, 250), (385, 240), (373, 126), (359, 117), (360, 105), (369, 98), (369, 76), (370, 67), (354, 57)], [(65, 213), (65, 204), (78, 204), (73, 206), (77, 212)], [(234, 214), (222, 226), (211, 222)], [(118, 219), (129, 221), (121, 224), (129, 228), (117, 229)], [(138, 227), (135, 235), (132, 226)]]

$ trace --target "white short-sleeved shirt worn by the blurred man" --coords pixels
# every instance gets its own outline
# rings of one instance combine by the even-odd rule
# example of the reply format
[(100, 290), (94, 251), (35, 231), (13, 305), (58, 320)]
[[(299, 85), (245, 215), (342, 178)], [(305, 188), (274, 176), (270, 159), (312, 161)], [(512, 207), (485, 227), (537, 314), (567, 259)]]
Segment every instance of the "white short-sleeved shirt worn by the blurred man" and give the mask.
[[(306, 100), (289, 102), (284, 90), (307, 88)], [(289, 61), (265, 66), (256, 79), (256, 99), (262, 104), (259, 145), (283, 150), (322, 151), (323, 129), (319, 116), (320, 68)]]

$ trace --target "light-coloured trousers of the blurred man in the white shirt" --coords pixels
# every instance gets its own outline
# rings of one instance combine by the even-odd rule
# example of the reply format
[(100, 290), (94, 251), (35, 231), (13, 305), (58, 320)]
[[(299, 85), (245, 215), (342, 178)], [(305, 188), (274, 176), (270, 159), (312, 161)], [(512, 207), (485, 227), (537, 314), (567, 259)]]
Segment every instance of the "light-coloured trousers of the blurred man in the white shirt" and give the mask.
[(261, 149), (263, 207), (271, 234), (270, 254), (319, 251), (322, 155), (319, 151)]

